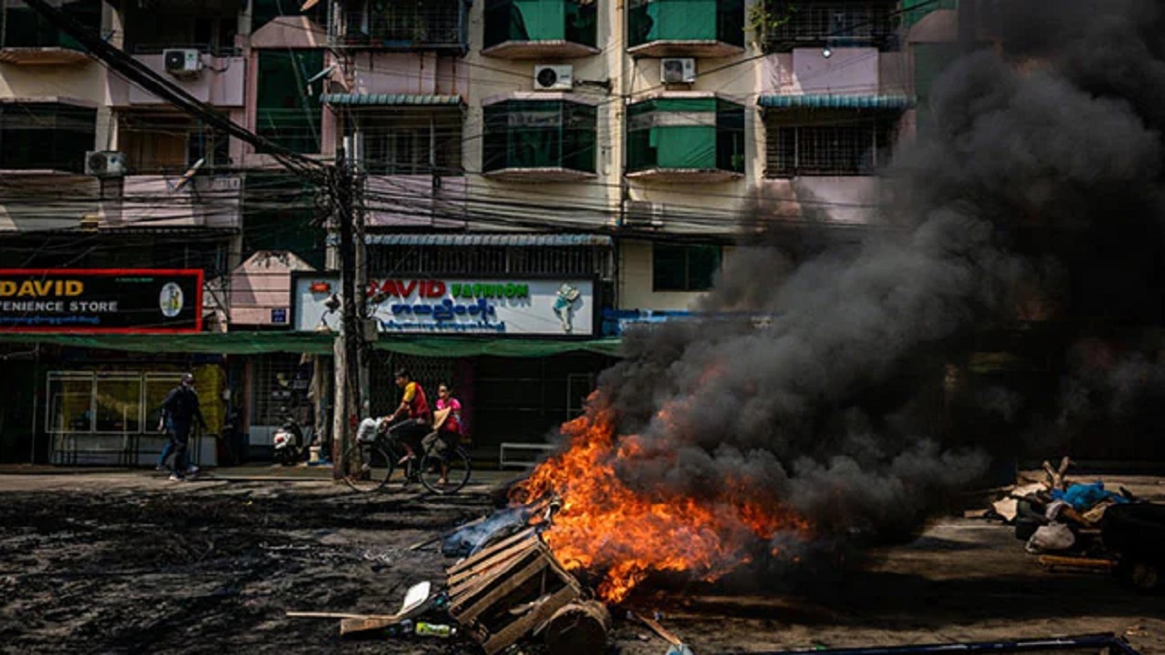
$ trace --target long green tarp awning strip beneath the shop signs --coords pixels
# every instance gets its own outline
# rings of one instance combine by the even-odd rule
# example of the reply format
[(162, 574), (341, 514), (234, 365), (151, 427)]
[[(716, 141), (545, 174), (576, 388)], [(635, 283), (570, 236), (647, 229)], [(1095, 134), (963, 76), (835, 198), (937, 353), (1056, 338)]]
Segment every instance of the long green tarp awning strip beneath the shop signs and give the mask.
[[(332, 336), (311, 332), (199, 332), (197, 334), (5, 334), (0, 344), (51, 344), (94, 350), (158, 352), (261, 354), (301, 352), (331, 354)], [(376, 350), (418, 357), (548, 357), (585, 351), (616, 355), (620, 339), (567, 341), (556, 339), (474, 339), (384, 334)]]

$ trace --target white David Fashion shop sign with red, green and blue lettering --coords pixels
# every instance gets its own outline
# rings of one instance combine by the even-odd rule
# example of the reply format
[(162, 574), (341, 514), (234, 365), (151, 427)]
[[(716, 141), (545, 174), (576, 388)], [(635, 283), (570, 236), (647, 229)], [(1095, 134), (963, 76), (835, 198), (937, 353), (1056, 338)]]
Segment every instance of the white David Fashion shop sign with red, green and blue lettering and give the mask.
[[(338, 330), (339, 289), (334, 274), (295, 274), (295, 329)], [(584, 279), (376, 279), (365, 297), (381, 333), (589, 337), (596, 325)]]

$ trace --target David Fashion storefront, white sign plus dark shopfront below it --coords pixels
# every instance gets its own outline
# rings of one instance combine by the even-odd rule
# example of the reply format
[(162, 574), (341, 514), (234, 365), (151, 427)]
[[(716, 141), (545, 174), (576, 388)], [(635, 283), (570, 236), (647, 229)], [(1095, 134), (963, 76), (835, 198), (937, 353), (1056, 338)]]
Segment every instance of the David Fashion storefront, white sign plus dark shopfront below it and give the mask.
[[(400, 275), (369, 280), (375, 324), (369, 371), (373, 414), (395, 409), (397, 367), (431, 396), (452, 386), (481, 457), (502, 442), (543, 442), (582, 410), (617, 339), (596, 338), (596, 281), (585, 275)], [(339, 326), (334, 274), (296, 274), (292, 323), (301, 332)], [(435, 400), (435, 399), (432, 399)]]

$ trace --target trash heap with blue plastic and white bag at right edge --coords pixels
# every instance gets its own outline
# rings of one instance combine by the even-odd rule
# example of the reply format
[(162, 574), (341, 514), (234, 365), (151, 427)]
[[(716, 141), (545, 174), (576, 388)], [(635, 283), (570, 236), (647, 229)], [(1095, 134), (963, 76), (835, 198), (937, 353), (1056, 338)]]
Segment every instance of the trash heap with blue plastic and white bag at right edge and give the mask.
[(1101, 480), (1071, 483), (1044, 462), (1046, 479), (1016, 486), (988, 516), (1015, 526), (1016, 538), (1050, 570), (1115, 572), (1136, 587), (1158, 589), (1165, 572), (1165, 506), (1143, 502)]

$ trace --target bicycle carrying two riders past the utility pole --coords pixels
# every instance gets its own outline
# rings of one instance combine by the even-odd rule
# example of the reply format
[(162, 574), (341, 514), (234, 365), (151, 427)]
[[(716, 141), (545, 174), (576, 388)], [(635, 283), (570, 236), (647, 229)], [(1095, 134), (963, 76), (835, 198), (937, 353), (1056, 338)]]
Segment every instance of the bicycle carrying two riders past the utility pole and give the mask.
[(397, 435), (404, 424), (401, 422), (387, 430), (377, 430), (373, 439), (358, 441), (348, 446), (343, 460), (347, 467), (344, 483), (360, 493), (379, 492), (389, 484), (405, 487), (418, 481), (430, 492), (442, 495), (461, 491), (469, 481), (469, 455), (459, 445), (431, 438), (436, 432), (430, 432), (422, 441), (428, 444), (422, 446), (424, 452), (421, 457), (405, 460), (404, 466), (397, 464), (407, 453)]

